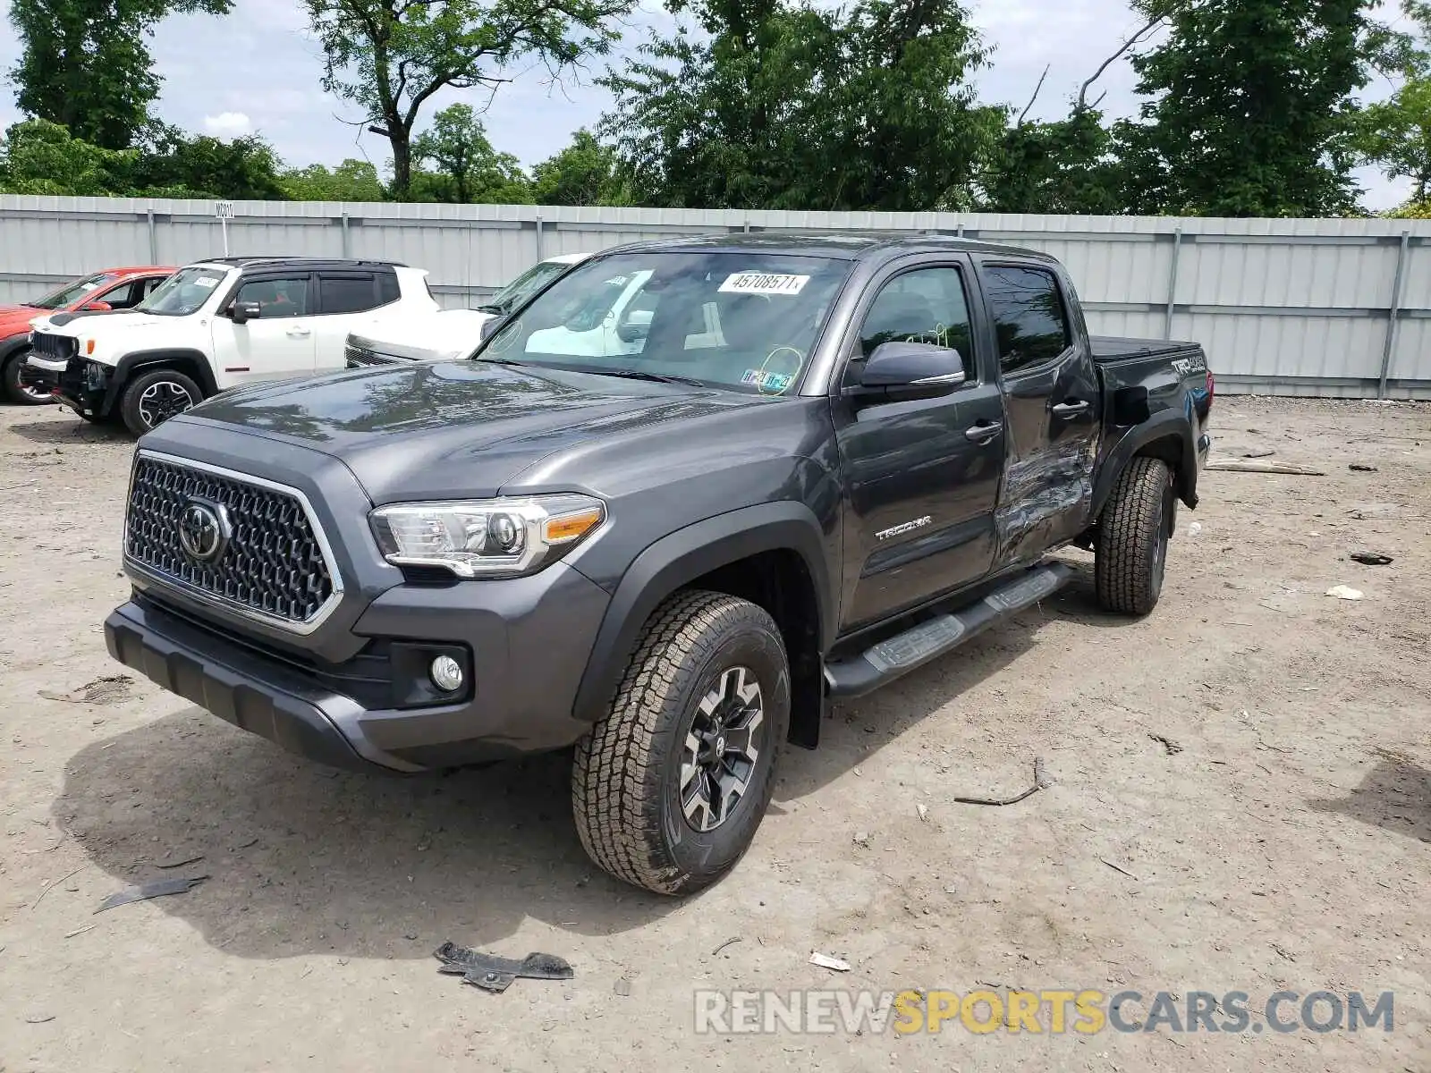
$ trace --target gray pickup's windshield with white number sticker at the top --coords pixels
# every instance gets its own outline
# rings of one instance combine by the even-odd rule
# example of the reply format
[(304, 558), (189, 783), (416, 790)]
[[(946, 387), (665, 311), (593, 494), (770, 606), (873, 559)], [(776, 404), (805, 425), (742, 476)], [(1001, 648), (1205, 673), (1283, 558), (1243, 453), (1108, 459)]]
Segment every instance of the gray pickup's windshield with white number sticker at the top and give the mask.
[(793, 395), (850, 262), (622, 253), (574, 268), (474, 355)]

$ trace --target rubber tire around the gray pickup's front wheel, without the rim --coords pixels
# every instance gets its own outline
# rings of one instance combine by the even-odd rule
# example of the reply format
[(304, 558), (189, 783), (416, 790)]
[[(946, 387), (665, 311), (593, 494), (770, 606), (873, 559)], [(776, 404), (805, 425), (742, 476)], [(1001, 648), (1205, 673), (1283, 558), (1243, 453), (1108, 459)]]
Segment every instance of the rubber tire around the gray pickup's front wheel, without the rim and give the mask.
[[(680, 804), (681, 753), (701, 700), (737, 667), (760, 685), (764, 737), (746, 795), (701, 833)], [(760, 827), (788, 725), (790, 670), (770, 615), (723, 592), (675, 594), (647, 622), (607, 715), (577, 744), (581, 844), (617, 878), (658, 894), (710, 886)]]

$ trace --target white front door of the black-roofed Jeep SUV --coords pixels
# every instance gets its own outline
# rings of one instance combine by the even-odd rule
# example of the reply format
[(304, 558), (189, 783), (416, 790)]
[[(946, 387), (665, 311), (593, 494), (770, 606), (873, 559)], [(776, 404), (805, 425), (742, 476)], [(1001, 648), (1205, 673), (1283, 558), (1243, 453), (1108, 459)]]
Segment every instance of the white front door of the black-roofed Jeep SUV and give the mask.
[(306, 275), (246, 279), (232, 303), (258, 302), (258, 320), (242, 325), (213, 318), (215, 376), (219, 388), (313, 373), (312, 295)]

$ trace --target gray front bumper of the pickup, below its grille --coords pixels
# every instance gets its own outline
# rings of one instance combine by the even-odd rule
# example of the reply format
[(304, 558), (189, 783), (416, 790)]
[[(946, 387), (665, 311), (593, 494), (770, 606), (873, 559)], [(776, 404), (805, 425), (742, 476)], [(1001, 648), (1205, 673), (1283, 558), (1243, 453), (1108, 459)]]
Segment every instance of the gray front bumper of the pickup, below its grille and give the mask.
[[(136, 592), (104, 621), (104, 641), (120, 662), (290, 753), (412, 773), (558, 750), (585, 734), (572, 710), (608, 599), (560, 562), (508, 582), (399, 585), (359, 618), (362, 652), (333, 665)], [(434, 637), (442, 641), (424, 640)], [(405, 690), (372, 670), (385, 645), (467, 654), (467, 697), (398, 707)]]

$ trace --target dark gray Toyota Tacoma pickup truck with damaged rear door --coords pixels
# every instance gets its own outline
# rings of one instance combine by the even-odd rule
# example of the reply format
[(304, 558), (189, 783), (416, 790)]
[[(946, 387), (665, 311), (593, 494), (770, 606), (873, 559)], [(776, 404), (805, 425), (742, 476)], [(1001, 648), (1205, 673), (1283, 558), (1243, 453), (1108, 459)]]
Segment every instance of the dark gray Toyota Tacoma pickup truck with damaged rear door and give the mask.
[(953, 236), (625, 246), (487, 329), (146, 435), (109, 650), (326, 764), (574, 747), (584, 846), (667, 894), (831, 698), (1056, 591), (1049, 552), (1152, 611), (1209, 446), (1199, 346), (1090, 339), (1056, 260)]

